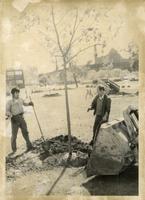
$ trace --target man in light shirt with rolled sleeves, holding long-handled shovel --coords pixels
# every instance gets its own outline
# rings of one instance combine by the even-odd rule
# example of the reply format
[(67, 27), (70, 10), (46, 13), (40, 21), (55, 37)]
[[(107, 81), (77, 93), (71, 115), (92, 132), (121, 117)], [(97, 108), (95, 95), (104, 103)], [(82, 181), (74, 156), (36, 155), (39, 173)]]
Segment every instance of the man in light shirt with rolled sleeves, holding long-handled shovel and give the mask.
[(7, 102), (6, 105), (6, 119), (11, 118), (12, 136), (11, 136), (11, 147), (12, 154), (17, 151), (16, 139), (18, 134), (18, 129), (22, 131), (22, 135), (26, 141), (27, 151), (33, 149), (32, 143), (29, 139), (29, 133), (27, 130), (27, 124), (23, 117), (24, 110), (23, 106), (34, 106), (33, 102), (25, 103), (23, 99), (19, 98), (20, 90), (13, 88), (11, 90), (12, 99)]

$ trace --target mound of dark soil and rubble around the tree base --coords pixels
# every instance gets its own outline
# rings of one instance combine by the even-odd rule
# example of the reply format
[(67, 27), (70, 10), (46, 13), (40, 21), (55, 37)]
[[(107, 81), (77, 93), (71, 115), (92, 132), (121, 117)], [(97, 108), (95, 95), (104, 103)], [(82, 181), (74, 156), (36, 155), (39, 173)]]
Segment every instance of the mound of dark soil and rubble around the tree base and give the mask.
[(34, 150), (7, 156), (7, 179), (15, 180), (30, 171), (38, 172), (65, 166), (66, 164), (68, 167), (85, 166), (88, 160), (88, 153), (91, 151), (89, 144), (72, 136), (72, 156), (69, 163), (67, 163), (69, 156), (68, 143), (67, 135), (46, 139), (45, 142), (40, 138), (33, 142)]

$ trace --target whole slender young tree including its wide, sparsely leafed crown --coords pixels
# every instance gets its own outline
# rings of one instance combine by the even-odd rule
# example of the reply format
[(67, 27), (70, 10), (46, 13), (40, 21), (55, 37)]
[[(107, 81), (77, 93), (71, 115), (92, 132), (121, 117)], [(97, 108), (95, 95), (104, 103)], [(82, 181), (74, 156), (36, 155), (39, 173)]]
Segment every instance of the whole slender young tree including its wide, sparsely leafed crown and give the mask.
[[(69, 152), (71, 153), (71, 120), (67, 91), (67, 68), (71, 68), (73, 71), (71, 65), (72, 61), (90, 48), (94, 49), (94, 60), (96, 64), (98, 48), (101, 48), (103, 52), (106, 46), (104, 30), (106, 30), (106, 32), (108, 31), (108, 26), (105, 26), (103, 27), (102, 32), (100, 28), (100, 24), (102, 25), (100, 17), (103, 17), (103, 20), (107, 19), (108, 13), (111, 12), (111, 10), (109, 10), (108, 7), (95, 9), (88, 6), (83, 9), (78, 7), (69, 7), (67, 9), (66, 7), (61, 7), (58, 12), (56, 12), (56, 7), (57, 6), (55, 6), (55, 12), (53, 6), (50, 7), (49, 5), (46, 7), (45, 12), (47, 14), (45, 17), (42, 17), (42, 12), (41, 15), (38, 16), (36, 13), (29, 13), (29, 11), (27, 13), (26, 11), (20, 16), (19, 26), (21, 27), (21, 30), (25, 32), (37, 30), (40, 38), (43, 36), (44, 39), (39, 42), (42, 42), (45, 45), (52, 57), (59, 57), (59, 60), (61, 60), (59, 63), (57, 62), (57, 67), (63, 67), (65, 73), (65, 101), (70, 144)], [(60, 16), (61, 14), (62, 16)], [(73, 76), (76, 81), (75, 73), (73, 73)]]

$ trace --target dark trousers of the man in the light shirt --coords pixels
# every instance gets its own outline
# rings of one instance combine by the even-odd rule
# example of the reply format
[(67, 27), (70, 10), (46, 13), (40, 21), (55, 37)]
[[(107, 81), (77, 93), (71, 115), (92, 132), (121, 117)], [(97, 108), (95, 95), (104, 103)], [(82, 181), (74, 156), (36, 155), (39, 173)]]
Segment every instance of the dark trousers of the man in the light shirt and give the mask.
[(11, 137), (12, 150), (13, 151), (17, 150), (16, 139), (17, 139), (17, 134), (18, 134), (19, 128), (21, 129), (23, 138), (26, 141), (27, 148), (31, 148), (32, 144), (31, 144), (30, 139), (29, 139), (27, 124), (24, 120), (23, 115), (19, 114), (19, 115), (13, 116), (11, 118), (11, 125), (12, 125), (12, 137)]

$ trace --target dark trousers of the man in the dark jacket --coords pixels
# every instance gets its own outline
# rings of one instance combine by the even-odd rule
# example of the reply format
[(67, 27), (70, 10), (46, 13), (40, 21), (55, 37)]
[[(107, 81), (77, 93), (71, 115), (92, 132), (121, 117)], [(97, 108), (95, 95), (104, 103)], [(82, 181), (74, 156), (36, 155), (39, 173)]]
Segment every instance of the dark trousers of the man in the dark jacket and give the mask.
[(101, 124), (102, 124), (102, 116), (96, 115), (94, 126), (93, 126), (93, 139), (92, 139), (93, 143), (97, 139)]

